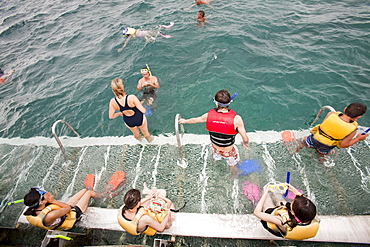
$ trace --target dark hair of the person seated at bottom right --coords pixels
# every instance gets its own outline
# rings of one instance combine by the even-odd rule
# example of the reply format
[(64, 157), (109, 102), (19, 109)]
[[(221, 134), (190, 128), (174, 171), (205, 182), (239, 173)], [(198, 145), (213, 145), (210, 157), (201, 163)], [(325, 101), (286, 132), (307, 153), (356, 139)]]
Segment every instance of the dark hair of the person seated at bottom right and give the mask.
[[(294, 203), (292, 206), (292, 210), (294, 215), (302, 222), (302, 223), (310, 223), (316, 216), (316, 206), (313, 202), (304, 197), (304, 196), (296, 196), (294, 199)], [(294, 227), (298, 224), (298, 221), (293, 217), (291, 217), (292, 221), (290, 226)]]

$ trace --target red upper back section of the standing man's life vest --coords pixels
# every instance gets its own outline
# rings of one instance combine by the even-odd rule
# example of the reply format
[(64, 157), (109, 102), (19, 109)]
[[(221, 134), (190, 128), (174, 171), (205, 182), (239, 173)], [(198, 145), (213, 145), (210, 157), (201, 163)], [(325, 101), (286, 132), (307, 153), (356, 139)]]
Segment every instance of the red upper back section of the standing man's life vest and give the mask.
[(235, 116), (236, 112), (231, 109), (227, 113), (217, 112), (216, 109), (209, 110), (206, 128), (209, 132), (236, 135), (238, 132), (234, 127)]

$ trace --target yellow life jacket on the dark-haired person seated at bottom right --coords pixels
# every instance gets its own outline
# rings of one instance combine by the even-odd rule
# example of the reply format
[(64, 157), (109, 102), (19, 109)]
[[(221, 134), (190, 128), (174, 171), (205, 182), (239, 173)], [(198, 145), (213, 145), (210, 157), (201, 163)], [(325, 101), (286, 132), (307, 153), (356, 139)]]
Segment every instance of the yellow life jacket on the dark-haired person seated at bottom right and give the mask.
[[(282, 218), (283, 224), (287, 221), (290, 221), (288, 214), (288, 209), (286, 206), (280, 206), (272, 211), (271, 215), (280, 216)], [(320, 221), (318, 219), (313, 219), (310, 224), (307, 225), (296, 225), (295, 227), (290, 227), (286, 225), (286, 233), (281, 232), (279, 227), (273, 223), (267, 222), (267, 227), (273, 231), (280, 232), (284, 238), (291, 240), (302, 240), (307, 238), (313, 238), (316, 236), (317, 231), (319, 230)]]

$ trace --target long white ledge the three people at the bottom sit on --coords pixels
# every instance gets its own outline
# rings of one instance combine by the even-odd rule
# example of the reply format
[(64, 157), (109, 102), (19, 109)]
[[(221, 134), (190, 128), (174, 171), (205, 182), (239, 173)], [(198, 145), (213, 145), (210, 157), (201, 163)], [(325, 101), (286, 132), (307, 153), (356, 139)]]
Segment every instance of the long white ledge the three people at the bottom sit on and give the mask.
[[(117, 222), (118, 209), (89, 207), (77, 224), (82, 228), (124, 231)], [(370, 215), (319, 216), (320, 229), (308, 241), (370, 243)], [(18, 222), (28, 223), (22, 215)], [(259, 219), (251, 214), (176, 213), (170, 229), (161, 234), (208, 238), (282, 240), (266, 231)]]

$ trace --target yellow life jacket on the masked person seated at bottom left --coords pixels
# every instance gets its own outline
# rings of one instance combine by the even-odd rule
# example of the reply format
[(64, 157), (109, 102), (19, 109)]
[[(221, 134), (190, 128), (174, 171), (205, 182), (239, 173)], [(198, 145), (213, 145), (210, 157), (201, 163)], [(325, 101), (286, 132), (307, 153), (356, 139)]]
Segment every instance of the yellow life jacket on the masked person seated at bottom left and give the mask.
[(61, 231), (69, 230), (76, 223), (76, 212), (73, 210), (69, 211), (65, 215), (66, 217), (64, 220), (62, 219), (63, 223), (61, 225), (56, 225), (56, 226), (45, 226), (44, 225), (44, 218), (46, 217), (46, 215), (52, 210), (58, 210), (60, 208), (62, 207), (59, 205), (50, 204), (49, 206), (41, 210), (41, 212), (37, 216), (26, 215), (26, 219), (31, 225), (34, 225), (34, 226), (37, 226), (37, 227), (40, 227), (46, 230), (61, 230)]

